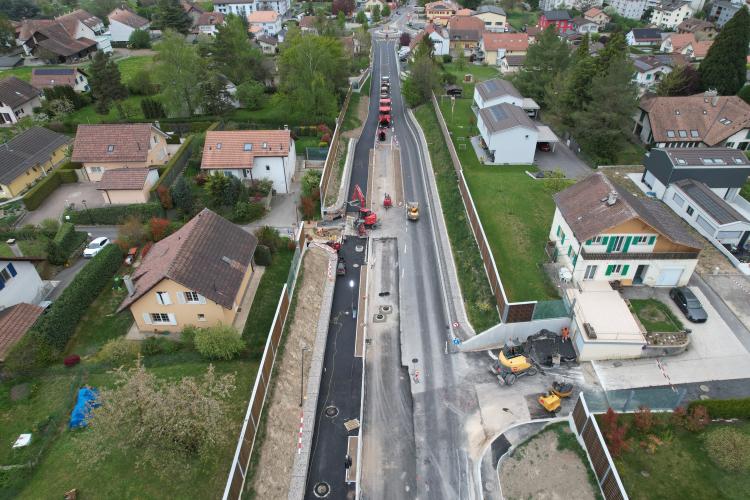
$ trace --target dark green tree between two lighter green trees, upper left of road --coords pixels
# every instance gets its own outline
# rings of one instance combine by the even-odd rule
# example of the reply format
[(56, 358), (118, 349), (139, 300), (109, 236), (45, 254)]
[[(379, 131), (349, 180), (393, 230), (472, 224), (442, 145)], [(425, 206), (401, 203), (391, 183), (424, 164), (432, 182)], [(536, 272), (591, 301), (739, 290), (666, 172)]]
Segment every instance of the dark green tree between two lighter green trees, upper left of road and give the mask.
[(265, 57), (247, 37), (247, 26), (239, 16), (230, 15), (219, 26), (211, 47), (214, 68), (235, 85), (248, 80), (263, 81), (268, 76)]

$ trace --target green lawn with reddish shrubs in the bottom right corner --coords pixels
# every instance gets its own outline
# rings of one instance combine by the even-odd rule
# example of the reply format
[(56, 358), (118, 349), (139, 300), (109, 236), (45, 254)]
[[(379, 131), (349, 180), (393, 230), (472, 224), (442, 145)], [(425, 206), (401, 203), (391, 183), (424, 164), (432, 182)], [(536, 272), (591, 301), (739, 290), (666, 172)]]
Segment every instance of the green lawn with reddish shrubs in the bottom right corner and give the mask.
[[(750, 436), (748, 422), (711, 424), (706, 431), (720, 425), (736, 426)], [(615, 465), (633, 500), (750, 498), (750, 474), (729, 472), (713, 462), (703, 445), (706, 431), (692, 433), (672, 426), (657, 427), (652, 435), (658, 444), (651, 453), (641, 446), (647, 441), (645, 436), (630, 427), (630, 451), (615, 459)]]

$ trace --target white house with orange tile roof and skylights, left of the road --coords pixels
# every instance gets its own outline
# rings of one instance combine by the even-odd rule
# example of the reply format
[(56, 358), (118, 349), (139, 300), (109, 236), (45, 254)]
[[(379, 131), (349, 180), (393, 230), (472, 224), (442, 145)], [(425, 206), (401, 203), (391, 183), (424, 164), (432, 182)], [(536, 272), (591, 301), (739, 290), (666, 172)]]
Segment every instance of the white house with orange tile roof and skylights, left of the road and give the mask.
[(243, 180), (270, 179), (288, 193), (297, 161), (289, 130), (232, 130), (206, 133), (201, 170)]

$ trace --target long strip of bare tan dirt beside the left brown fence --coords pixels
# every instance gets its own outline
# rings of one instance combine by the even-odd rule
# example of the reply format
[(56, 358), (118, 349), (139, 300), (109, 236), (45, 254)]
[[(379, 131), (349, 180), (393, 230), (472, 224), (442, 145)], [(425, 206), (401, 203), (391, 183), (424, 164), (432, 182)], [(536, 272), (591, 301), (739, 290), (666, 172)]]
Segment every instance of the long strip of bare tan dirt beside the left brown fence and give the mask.
[[(300, 363), (305, 353), (305, 378), (310, 372), (312, 347), (323, 302), (321, 290), (328, 274), (328, 253), (310, 247), (302, 261), (295, 291), (296, 308), (290, 311), (291, 325), (285, 333), (284, 352), (274, 367), (275, 387), (266, 401), (266, 432), (256, 452), (260, 460), (255, 466), (253, 490), (256, 498), (286, 498), (289, 478), (297, 453), (300, 419)], [(305, 380), (305, 391), (307, 380)]]

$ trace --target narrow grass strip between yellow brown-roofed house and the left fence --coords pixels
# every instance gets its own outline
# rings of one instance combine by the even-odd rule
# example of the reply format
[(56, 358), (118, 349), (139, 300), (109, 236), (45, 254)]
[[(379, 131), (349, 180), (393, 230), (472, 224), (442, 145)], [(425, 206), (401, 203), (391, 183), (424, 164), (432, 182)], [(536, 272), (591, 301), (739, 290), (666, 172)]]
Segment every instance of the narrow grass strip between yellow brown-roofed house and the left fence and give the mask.
[(248, 316), (252, 320), (248, 320), (245, 324), (242, 336), (250, 348), (250, 356), (258, 361), (263, 356), (268, 331), (271, 329), (276, 306), (281, 298), (281, 289), (284, 288), (289, 275), (292, 257), (294, 257), (294, 251), (286, 248), (279, 249), (273, 256), (273, 262), (263, 273), (258, 284), (258, 291), (255, 292)]

